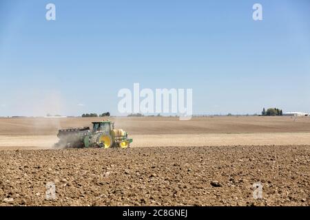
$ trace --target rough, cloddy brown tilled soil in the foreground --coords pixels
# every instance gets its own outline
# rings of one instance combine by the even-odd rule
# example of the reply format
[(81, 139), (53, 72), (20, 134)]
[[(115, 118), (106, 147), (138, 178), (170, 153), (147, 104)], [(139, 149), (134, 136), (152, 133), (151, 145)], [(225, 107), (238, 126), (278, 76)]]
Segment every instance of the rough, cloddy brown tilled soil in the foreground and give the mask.
[(310, 146), (0, 151), (0, 205), (309, 206), (309, 156)]

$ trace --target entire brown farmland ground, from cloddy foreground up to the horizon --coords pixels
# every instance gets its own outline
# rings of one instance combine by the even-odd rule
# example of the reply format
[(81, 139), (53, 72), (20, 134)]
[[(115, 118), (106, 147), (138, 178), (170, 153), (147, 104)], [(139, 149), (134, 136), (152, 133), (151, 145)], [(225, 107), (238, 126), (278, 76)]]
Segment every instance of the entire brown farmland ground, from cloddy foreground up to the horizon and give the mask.
[(93, 120), (0, 118), (0, 206), (310, 205), (310, 117), (112, 118), (132, 148), (50, 149)]

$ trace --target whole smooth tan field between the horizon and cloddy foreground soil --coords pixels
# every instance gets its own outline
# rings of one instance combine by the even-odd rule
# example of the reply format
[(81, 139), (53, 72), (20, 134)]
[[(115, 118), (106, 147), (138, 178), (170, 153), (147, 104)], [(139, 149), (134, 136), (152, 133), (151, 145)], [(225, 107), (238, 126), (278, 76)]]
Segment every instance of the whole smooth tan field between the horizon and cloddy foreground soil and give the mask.
[[(91, 126), (103, 118), (1, 118), (0, 148), (50, 148), (58, 129)], [(133, 147), (303, 145), (310, 117), (110, 118), (134, 138)]]

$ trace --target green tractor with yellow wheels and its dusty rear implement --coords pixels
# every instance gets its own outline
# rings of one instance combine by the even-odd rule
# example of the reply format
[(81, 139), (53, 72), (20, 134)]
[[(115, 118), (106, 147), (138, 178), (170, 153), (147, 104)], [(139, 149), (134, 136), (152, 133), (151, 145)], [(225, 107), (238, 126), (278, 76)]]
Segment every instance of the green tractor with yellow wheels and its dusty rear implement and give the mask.
[(75, 129), (61, 129), (57, 137), (56, 148), (128, 148), (132, 139), (123, 129), (114, 129), (114, 122), (110, 120), (92, 122), (89, 126)]

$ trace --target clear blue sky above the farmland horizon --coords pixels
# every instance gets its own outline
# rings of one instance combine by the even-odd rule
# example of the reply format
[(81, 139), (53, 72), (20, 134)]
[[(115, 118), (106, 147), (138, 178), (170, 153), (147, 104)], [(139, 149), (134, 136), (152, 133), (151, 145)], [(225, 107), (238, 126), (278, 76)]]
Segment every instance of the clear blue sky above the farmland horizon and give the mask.
[(192, 88), (194, 113), (310, 112), (310, 1), (1, 0), (0, 77), (4, 116), (115, 115), (134, 83)]

